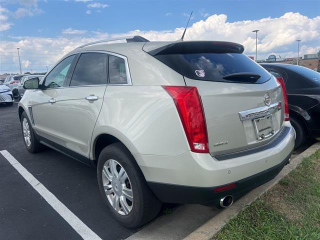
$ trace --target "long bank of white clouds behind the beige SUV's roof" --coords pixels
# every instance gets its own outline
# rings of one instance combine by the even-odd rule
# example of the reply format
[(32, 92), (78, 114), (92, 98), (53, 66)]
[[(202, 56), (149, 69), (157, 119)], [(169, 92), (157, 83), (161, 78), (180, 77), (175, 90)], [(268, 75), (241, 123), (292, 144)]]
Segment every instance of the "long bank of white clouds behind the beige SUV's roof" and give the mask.
[[(258, 58), (265, 59), (269, 54), (284, 57), (295, 57), (297, 50), (296, 39), (301, 39), (300, 55), (315, 53), (320, 49), (320, 16), (309, 18), (300, 13), (287, 12), (280, 17), (266, 17), (257, 20), (227, 21), (224, 14), (211, 15), (205, 20), (199, 20), (190, 25), (185, 33), (184, 40), (226, 40), (238, 42), (244, 45), (244, 53), (253, 56), (255, 54), (255, 33), (258, 32)], [(1, 61), (12, 64), (12, 71), (18, 71), (18, 60), (7, 51), (15, 51), (20, 47), (21, 60), (28, 59), (33, 71), (45, 70), (45, 65), (52, 67), (61, 56), (75, 47), (95, 40), (118, 37), (124, 35), (141, 35), (149, 40), (177, 40), (181, 37), (184, 26), (171, 30), (132, 30), (125, 33), (110, 34), (101, 30), (85, 31), (72, 28), (64, 29), (65, 32), (80, 31), (77, 33), (65, 33), (62, 36), (27, 37), (13, 36), (11, 41), (2, 41), (0, 48)], [(82, 32), (85, 31), (85, 32)], [(82, 34), (82, 35), (80, 35)], [(6, 49), (6, 50), (4, 50)], [(43, 54), (28, 55), (28, 53)], [(34, 57), (32, 57), (34, 56)], [(26, 58), (27, 57), (27, 58)], [(7, 70), (9, 65), (2, 65), (0, 71)], [(42, 67), (42, 68), (41, 68)], [(28, 69), (25, 69), (26, 71)], [(23, 71), (23, 70), (22, 70)]]

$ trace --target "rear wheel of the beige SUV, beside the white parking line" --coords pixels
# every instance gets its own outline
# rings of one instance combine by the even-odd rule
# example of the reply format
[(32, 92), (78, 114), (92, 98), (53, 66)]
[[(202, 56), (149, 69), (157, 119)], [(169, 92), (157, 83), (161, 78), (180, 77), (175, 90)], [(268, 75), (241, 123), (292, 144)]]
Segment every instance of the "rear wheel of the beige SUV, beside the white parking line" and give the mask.
[[(116, 173), (123, 172), (121, 168), (124, 169), (127, 175), (124, 186), (123, 181), (122, 184), (121, 181), (117, 182), (117, 179), (121, 179), (122, 177), (117, 178), (112, 175), (111, 162), (116, 165)], [(104, 171), (103, 173), (102, 170)], [(106, 173), (108, 173), (108, 177)], [(121, 225), (129, 228), (139, 227), (152, 220), (158, 214), (161, 207), (160, 200), (149, 189), (135, 159), (121, 142), (110, 144), (102, 149), (97, 163), (97, 178), (99, 190), (105, 205)], [(125, 191), (131, 189), (133, 193), (132, 201), (126, 198), (125, 194), (121, 195), (121, 192), (124, 191), (121, 191), (121, 189), (117, 191), (119, 190), (117, 183), (118, 185), (122, 185), (121, 189), (126, 188)], [(105, 193), (103, 184), (108, 184), (105, 187), (109, 191), (108, 196)], [(114, 205), (115, 207), (119, 206), (118, 211), (111, 205), (111, 202), (116, 203), (117, 196), (120, 196), (120, 204)], [(121, 206), (123, 199), (126, 203), (123, 206), (126, 205), (126, 207)]]

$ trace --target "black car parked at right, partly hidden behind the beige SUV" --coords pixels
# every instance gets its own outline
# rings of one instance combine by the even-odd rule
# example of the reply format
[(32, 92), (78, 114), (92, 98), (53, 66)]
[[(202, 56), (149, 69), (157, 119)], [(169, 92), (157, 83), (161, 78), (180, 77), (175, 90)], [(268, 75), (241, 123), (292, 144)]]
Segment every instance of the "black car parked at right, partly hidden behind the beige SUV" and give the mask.
[(292, 64), (261, 63), (261, 66), (285, 83), (290, 122), (296, 132), (294, 148), (306, 137), (320, 137), (320, 73)]

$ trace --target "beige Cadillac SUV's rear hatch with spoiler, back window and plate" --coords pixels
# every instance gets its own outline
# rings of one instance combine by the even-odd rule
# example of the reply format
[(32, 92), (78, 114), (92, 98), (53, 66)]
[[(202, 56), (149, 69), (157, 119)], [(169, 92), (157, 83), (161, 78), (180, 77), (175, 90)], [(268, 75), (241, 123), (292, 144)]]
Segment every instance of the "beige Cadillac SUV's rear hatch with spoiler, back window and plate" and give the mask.
[[(200, 94), (211, 155), (270, 142), (283, 121), (275, 78), (231, 42), (184, 41), (143, 48), (184, 76)], [(152, 43), (150, 43), (152, 44)]]

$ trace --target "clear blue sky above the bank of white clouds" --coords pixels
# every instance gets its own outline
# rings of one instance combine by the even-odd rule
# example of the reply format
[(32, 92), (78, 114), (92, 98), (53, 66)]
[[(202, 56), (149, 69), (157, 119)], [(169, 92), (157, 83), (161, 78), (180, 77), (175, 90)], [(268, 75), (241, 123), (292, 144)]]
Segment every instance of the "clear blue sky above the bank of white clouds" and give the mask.
[[(108, 6), (104, 8), (87, 7), (92, 2)], [(17, 7), (23, 7), (19, 1), (15, 4), (7, 4), (6, 2), (2, 4), (10, 11), (16, 10)], [(2, 35), (2, 39), (8, 39), (8, 35), (54, 37), (61, 34), (62, 29), (69, 27), (109, 33), (127, 32), (134, 29), (168, 30), (184, 26), (187, 16), (183, 13), (189, 13), (191, 10), (194, 11), (191, 24), (205, 19), (205, 13), (210, 15), (226, 14), (230, 22), (254, 20), (268, 16), (279, 17), (290, 11), (299, 12), (310, 18), (320, 14), (320, 1), (315, 0), (47, 0), (38, 1), (37, 6), (43, 13), (15, 19), (14, 26)], [(90, 10), (91, 14), (86, 14), (87, 10)]]

